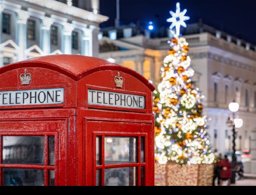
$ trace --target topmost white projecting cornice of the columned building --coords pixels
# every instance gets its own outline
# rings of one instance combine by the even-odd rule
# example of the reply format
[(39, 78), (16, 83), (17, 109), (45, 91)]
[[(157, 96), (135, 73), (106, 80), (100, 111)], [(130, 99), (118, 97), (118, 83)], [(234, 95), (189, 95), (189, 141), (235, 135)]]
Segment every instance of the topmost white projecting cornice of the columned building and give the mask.
[(74, 6), (69, 7), (66, 3), (58, 2), (55, 0), (43, 0), (43, 1), (42, 0), (23, 0), (23, 1), (40, 5), (42, 7), (46, 7), (48, 9), (52, 9), (52, 10), (69, 14), (72, 16), (76, 16), (78, 18), (82, 18), (85, 20), (91, 20), (97, 23), (102, 23), (109, 19), (109, 17), (107, 16), (94, 14), (93, 12), (89, 12), (87, 10), (77, 8)]

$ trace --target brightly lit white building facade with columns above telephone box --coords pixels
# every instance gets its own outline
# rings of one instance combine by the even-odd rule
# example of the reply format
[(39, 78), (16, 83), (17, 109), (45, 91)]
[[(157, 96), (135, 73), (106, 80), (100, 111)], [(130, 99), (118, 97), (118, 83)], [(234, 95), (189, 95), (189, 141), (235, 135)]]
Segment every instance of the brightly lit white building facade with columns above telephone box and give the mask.
[(98, 56), (99, 0), (1, 0), (0, 67), (49, 54)]

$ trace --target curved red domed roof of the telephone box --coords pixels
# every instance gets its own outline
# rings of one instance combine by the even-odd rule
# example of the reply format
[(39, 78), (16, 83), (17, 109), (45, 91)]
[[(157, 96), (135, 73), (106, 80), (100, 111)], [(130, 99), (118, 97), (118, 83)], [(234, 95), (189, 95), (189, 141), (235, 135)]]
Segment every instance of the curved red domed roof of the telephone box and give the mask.
[(120, 70), (124, 73), (128, 73), (136, 77), (150, 90), (155, 90), (155, 87), (145, 77), (141, 76), (139, 73), (132, 69), (115, 63), (111, 63), (107, 60), (83, 55), (47, 55), (27, 59), (21, 62), (16, 62), (7, 66), (3, 66), (2, 68), (0, 68), (0, 74), (5, 73), (9, 70), (23, 67), (40, 67), (52, 69), (69, 76), (73, 80), (80, 80), (84, 76), (87, 76), (97, 71)]

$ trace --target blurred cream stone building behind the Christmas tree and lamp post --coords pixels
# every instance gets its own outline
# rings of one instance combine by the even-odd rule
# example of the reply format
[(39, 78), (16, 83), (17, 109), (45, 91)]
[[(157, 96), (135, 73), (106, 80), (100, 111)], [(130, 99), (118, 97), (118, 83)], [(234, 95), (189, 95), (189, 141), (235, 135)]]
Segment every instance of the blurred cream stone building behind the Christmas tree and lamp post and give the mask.
[[(99, 35), (99, 56), (136, 70), (157, 86), (170, 48), (168, 32), (166, 28), (151, 34), (137, 25), (105, 28)], [(226, 121), (231, 115), (228, 104), (235, 100), (240, 105), (237, 117), (243, 119), (236, 133), (236, 150), (250, 150), (256, 160), (256, 47), (202, 22), (188, 25), (181, 33), (190, 44), (194, 85), (205, 96), (204, 114), (211, 118), (208, 133), (213, 150), (232, 151), (232, 129)], [(248, 165), (247, 172), (255, 165)]]

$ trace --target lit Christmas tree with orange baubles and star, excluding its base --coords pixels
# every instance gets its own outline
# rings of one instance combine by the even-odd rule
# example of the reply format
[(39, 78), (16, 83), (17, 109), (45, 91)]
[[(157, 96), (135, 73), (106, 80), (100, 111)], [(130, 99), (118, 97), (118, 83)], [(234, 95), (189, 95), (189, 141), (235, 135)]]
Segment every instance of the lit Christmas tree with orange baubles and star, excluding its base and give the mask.
[[(177, 3), (176, 13), (170, 12), (176, 22), (173, 18), (167, 20), (172, 22), (170, 28), (176, 25), (177, 34), (184, 23), (181, 20), (187, 17), (184, 12), (186, 10), (180, 12)], [(176, 20), (179, 14), (180, 19)], [(180, 23), (178, 28), (177, 23)], [(154, 97), (156, 160), (160, 164), (168, 161), (181, 165), (212, 163), (214, 155), (206, 132), (208, 119), (202, 115), (203, 96), (192, 83), (194, 70), (187, 55), (189, 45), (176, 34), (169, 43), (171, 48), (164, 59), (161, 83)]]

